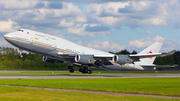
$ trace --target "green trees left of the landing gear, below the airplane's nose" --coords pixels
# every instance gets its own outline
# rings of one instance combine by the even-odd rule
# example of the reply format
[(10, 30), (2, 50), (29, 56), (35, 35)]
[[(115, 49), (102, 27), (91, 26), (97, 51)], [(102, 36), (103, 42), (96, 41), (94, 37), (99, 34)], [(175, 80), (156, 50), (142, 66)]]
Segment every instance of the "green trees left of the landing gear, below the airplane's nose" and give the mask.
[(23, 53), (19, 58), (17, 49), (0, 47), (1, 70), (63, 70), (67, 63), (47, 63), (42, 61), (42, 55)]

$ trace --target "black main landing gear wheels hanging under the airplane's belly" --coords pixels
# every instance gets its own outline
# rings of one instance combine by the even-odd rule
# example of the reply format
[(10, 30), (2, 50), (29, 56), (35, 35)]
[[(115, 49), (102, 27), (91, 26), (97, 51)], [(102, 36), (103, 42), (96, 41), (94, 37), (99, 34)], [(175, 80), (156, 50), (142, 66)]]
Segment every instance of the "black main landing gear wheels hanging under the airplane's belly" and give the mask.
[[(90, 68), (89, 66), (82, 66), (80, 67), (79, 72), (82, 72), (83, 74), (85, 73), (91, 74), (92, 71), (89, 68)], [(68, 69), (70, 73), (74, 73), (73, 66), (68, 66)]]

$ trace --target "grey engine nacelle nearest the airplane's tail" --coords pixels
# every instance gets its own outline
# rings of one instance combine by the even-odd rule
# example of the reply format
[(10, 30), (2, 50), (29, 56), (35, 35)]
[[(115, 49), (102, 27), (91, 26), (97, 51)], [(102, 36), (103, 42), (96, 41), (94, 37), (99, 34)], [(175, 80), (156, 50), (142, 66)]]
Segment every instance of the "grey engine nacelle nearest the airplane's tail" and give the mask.
[(123, 65), (127, 62), (127, 56), (126, 55), (115, 55), (113, 57), (113, 61)]

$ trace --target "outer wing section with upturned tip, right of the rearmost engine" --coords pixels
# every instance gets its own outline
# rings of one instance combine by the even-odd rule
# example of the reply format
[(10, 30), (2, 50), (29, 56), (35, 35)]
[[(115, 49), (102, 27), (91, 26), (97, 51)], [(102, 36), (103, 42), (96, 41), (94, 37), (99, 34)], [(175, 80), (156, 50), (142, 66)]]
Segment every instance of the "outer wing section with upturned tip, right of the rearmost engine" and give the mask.
[(138, 58), (148, 58), (148, 57), (155, 57), (155, 56), (161, 56), (161, 57), (164, 57), (164, 56), (167, 56), (167, 55), (172, 55), (176, 52), (176, 50), (172, 50), (168, 53), (151, 53), (151, 54), (132, 54), (132, 55), (129, 55), (130, 57), (138, 57)]

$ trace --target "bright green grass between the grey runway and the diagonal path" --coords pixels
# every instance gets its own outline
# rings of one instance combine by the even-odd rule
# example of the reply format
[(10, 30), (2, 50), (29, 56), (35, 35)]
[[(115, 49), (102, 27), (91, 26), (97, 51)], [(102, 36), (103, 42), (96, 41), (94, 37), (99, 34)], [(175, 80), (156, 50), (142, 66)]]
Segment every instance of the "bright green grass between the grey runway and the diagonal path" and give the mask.
[(180, 78), (1, 79), (0, 84), (180, 96)]

